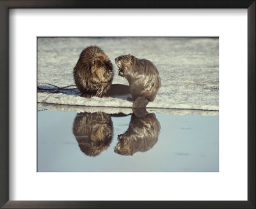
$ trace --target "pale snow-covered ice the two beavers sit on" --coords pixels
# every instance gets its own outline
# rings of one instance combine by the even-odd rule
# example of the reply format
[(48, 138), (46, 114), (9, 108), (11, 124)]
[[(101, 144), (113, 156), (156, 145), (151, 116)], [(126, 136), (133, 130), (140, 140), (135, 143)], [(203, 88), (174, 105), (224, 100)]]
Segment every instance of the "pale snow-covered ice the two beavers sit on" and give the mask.
[[(117, 75), (115, 57), (132, 54), (139, 59), (145, 58), (154, 62), (162, 86), (154, 102), (148, 104), (149, 110), (219, 110), (218, 38), (38, 38), (38, 87), (54, 88), (46, 83), (58, 87), (75, 85), (73, 68), (81, 51), (90, 45), (102, 48), (111, 59), (115, 71), (113, 83), (129, 85), (125, 78)], [(48, 103), (47, 108), (52, 110), (54, 106), (49, 104), (72, 105), (74, 108), (120, 108), (132, 106), (132, 102), (126, 100), (127, 96), (86, 99), (76, 90), (63, 90), (61, 93), (38, 92), (37, 99), (38, 103)], [(43, 108), (44, 105), (41, 106)], [(127, 111), (131, 112), (130, 109)], [(122, 112), (124, 110), (123, 108)]]

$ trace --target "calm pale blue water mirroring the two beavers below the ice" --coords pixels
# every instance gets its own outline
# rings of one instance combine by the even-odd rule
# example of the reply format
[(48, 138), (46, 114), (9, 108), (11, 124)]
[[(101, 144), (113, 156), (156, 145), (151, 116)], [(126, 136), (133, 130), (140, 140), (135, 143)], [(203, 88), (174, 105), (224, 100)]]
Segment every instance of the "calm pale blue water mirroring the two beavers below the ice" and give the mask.
[(137, 117), (100, 108), (95, 113), (38, 111), (37, 168), (218, 172), (218, 121), (218, 115)]

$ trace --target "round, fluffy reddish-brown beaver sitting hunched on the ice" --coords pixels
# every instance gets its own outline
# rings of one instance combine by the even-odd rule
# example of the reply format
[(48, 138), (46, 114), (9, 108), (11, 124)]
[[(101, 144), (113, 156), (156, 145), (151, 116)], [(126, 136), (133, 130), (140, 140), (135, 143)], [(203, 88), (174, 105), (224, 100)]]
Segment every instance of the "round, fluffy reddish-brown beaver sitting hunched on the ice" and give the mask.
[(73, 75), (83, 97), (103, 97), (111, 87), (113, 65), (101, 48), (91, 46), (81, 52)]

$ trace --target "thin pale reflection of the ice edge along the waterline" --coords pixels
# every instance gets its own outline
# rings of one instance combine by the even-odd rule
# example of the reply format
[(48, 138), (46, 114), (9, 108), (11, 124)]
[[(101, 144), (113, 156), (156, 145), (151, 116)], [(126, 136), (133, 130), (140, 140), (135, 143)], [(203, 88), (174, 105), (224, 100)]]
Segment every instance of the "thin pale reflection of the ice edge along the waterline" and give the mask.
[[(37, 103), (38, 109), (47, 109), (49, 111), (63, 111), (63, 112), (106, 112), (113, 113), (132, 113), (132, 108), (121, 107), (98, 107), (98, 106), (73, 106), (73, 105), (56, 105), (50, 103)], [(186, 109), (165, 109), (165, 108), (147, 108), (148, 113), (165, 113), (170, 115), (203, 115), (203, 116), (216, 116), (219, 115), (218, 111), (209, 110), (186, 110)]]

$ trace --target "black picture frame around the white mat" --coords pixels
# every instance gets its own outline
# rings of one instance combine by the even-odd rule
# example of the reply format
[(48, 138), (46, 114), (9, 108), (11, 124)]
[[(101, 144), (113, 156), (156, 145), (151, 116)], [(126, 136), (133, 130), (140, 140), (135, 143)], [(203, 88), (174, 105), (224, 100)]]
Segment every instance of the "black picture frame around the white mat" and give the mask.
[[(255, 5), (255, 0), (0, 0), (0, 206), (2, 208), (255, 208)], [(248, 11), (248, 201), (9, 201), (8, 11), (10, 8), (246, 8)]]

